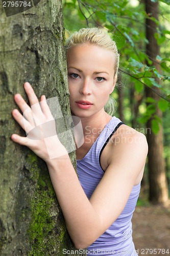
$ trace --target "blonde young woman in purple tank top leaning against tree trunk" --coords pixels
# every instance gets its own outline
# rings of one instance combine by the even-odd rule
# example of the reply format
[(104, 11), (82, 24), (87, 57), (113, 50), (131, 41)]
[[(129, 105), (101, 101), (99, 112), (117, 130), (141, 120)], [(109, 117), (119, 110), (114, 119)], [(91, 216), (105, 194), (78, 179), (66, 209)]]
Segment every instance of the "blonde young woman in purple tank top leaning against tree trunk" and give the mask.
[[(81, 29), (66, 43), (70, 109), (81, 119), (84, 143), (77, 148), (77, 170), (57, 135), (50, 146), (62, 156), (50, 159), (43, 139), (13, 134), (14, 142), (28, 146), (47, 164), (67, 230), (77, 248), (87, 255), (137, 255), (132, 241), (132, 214), (143, 176), (148, 144), (145, 136), (123, 124), (105, 109), (117, 80), (119, 55), (115, 42), (102, 29)], [(28, 82), (24, 85), (30, 104), (38, 99)], [(12, 115), (23, 129), (31, 127), (32, 110), (21, 95), (15, 102), (28, 110), (25, 120)], [(51, 120), (40, 99), (37, 118)], [(25, 125), (23, 124), (25, 123)]]

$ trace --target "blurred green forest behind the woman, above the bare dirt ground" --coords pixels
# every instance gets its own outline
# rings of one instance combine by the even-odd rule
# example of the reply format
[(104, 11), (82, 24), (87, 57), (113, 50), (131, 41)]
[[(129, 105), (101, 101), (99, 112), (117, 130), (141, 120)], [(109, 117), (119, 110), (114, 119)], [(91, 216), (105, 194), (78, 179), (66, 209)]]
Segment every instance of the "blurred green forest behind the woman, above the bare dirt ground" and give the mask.
[[(138, 205), (166, 203), (170, 191), (170, 1), (64, 0), (63, 18), (66, 37), (82, 27), (99, 26), (116, 41), (120, 67), (112, 94), (117, 101), (115, 115), (147, 136), (151, 152)], [(162, 138), (156, 142), (158, 137)]]

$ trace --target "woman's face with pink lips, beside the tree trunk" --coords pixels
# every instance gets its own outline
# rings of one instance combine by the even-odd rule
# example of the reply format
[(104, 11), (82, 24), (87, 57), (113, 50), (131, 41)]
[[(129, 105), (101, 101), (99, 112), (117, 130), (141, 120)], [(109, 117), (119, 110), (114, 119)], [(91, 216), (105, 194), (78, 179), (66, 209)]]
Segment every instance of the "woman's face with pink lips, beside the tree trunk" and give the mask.
[(114, 63), (114, 54), (96, 45), (79, 45), (67, 51), (70, 108), (74, 115), (81, 118), (104, 112), (116, 82)]

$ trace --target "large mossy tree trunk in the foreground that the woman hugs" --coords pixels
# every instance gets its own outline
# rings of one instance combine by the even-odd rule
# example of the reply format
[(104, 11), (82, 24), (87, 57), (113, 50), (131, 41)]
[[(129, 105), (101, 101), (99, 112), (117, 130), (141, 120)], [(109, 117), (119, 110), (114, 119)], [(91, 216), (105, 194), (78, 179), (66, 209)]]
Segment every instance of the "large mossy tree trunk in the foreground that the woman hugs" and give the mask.
[[(27, 99), (22, 87), (25, 81), (32, 84), (38, 97), (42, 94), (46, 98), (57, 96), (63, 115), (70, 115), (62, 3), (56, 0), (38, 2), (27, 11), (8, 17), (0, 6), (2, 256), (60, 256), (63, 249), (75, 250), (45, 163), (29, 148), (10, 139), (12, 133), (25, 136), (11, 116), (16, 108), (14, 94), (21, 93)], [(75, 164), (73, 153), (71, 160)]]

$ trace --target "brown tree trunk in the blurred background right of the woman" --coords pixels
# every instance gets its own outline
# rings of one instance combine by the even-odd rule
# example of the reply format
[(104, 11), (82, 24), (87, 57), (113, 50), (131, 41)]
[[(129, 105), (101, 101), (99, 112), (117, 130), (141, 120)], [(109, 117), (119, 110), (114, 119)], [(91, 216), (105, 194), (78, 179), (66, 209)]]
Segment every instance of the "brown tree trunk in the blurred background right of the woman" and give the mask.
[[(148, 16), (153, 16), (158, 20), (159, 6), (158, 2), (154, 3), (151, 0), (145, 0), (145, 10)], [(147, 44), (147, 55), (153, 61), (153, 65), (158, 71), (160, 66), (156, 62), (156, 56), (159, 55), (159, 46), (155, 39), (157, 25), (151, 19), (146, 19), (146, 36), (149, 41)], [(157, 80), (159, 83), (159, 80)], [(158, 88), (156, 88), (158, 90)], [(156, 101), (159, 100), (159, 96), (155, 94), (151, 89), (145, 90), (147, 97), (152, 97)], [(156, 106), (156, 113), (160, 119), (162, 119), (162, 113)], [(168, 200), (167, 180), (165, 175), (165, 161), (163, 158), (163, 129), (160, 126), (158, 134), (154, 134), (151, 130), (150, 119), (147, 123), (147, 127), (150, 128), (150, 133), (147, 134), (149, 144), (148, 166), (149, 166), (149, 183), (150, 192), (149, 199), (152, 203), (165, 203)]]

